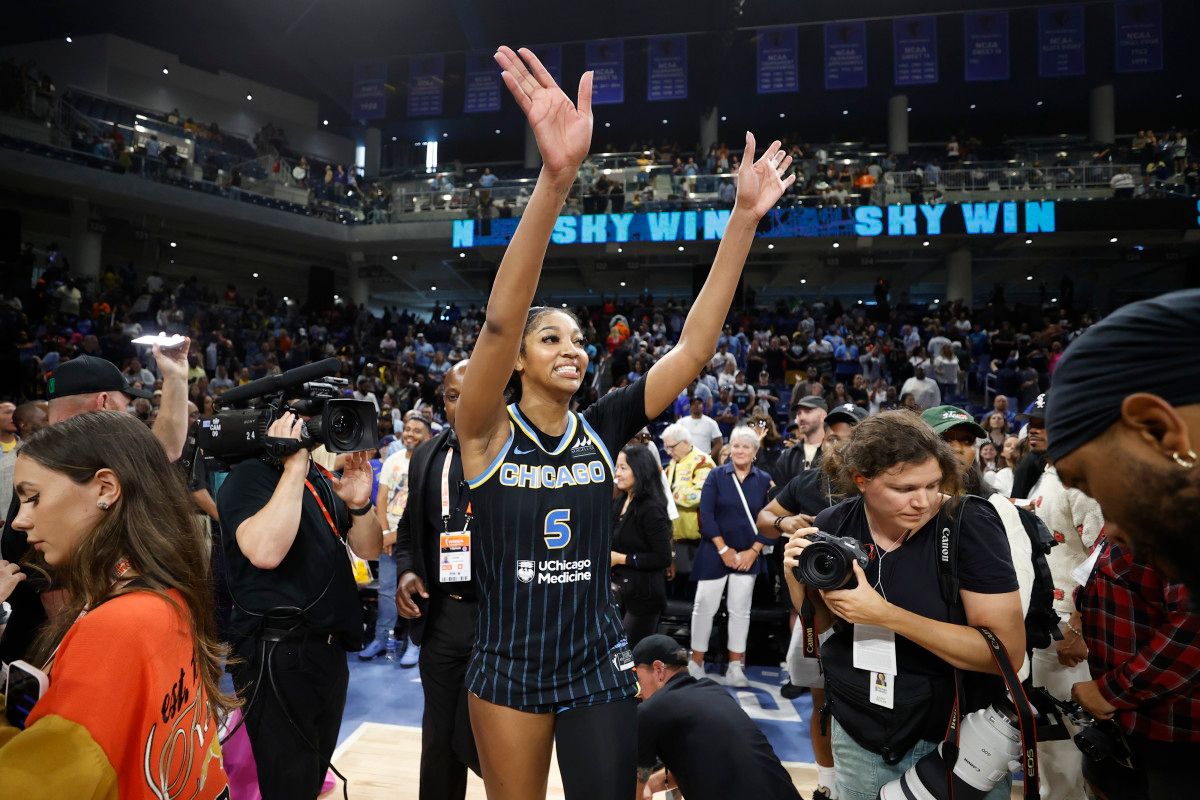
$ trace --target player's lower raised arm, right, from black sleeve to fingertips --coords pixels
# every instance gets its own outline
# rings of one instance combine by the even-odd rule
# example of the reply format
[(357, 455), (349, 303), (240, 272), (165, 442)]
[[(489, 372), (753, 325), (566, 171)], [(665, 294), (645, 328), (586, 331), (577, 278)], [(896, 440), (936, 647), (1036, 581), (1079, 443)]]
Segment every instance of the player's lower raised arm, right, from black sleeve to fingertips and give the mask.
[(792, 164), (792, 157), (780, 151), (778, 140), (767, 148), (758, 161), (754, 161), (754, 134), (746, 131), (745, 154), (738, 169), (737, 200), (716, 248), (708, 279), (688, 312), (679, 343), (659, 359), (646, 375), (648, 419), (653, 420), (661, 414), (713, 357), (716, 337), (730, 312), (758, 221), (779, 201), (787, 187), (796, 182), (796, 175), (788, 175), (786, 180), (782, 178)]

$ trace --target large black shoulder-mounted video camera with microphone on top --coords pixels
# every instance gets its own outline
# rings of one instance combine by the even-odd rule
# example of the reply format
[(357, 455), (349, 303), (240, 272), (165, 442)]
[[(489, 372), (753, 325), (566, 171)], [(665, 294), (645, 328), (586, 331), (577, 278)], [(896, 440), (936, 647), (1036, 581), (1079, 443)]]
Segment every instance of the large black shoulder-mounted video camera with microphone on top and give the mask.
[[(190, 431), (186, 450), (203, 450), (228, 467), (264, 455), (282, 459), (318, 445), (332, 453), (373, 447), (378, 431), (374, 404), (342, 397), (349, 381), (337, 377), (341, 367), (337, 359), (325, 359), (230, 389), (217, 399), (221, 408), (216, 415), (197, 421)], [(299, 440), (266, 434), (286, 411), (310, 417)]]

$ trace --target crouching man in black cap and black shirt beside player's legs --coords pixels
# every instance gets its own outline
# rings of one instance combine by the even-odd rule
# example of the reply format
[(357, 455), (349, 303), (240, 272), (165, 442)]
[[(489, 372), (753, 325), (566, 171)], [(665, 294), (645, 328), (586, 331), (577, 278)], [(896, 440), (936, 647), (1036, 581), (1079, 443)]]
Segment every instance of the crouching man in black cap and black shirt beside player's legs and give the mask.
[(674, 639), (638, 642), (634, 668), (642, 687), (635, 796), (678, 787), (688, 800), (799, 800), (767, 736), (722, 686), (688, 674)]

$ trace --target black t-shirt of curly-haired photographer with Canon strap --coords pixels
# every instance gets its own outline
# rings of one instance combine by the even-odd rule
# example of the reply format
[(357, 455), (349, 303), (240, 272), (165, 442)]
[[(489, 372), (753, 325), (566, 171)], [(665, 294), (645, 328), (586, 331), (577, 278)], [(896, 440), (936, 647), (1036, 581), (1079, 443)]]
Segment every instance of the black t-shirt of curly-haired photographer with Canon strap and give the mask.
[[(961, 506), (961, 513), (958, 570), (961, 589), (986, 595), (1016, 591), (1016, 571), (1013, 569), (1008, 537), (1000, 515), (986, 503), (966, 503)], [(822, 511), (814, 524), (835, 536), (857, 539), (868, 553), (877, 553), (862, 498), (850, 498)], [(882, 561), (882, 578), (881, 561), (877, 555), (872, 557), (865, 570), (866, 579), (893, 606), (932, 620), (961, 624), (961, 619), (952, 616), (937, 582), (940, 524), (949, 524), (948, 512), (935, 516), (920, 530), (910, 535), (902, 546), (889, 552)], [(840, 625), (834, 636), (822, 645), (822, 655), (832, 654), (834, 657), (829, 661), (852, 663), (852, 646), (853, 625)], [(928, 676), (948, 676), (953, 672), (950, 664), (899, 634), (896, 667), (901, 674)]]

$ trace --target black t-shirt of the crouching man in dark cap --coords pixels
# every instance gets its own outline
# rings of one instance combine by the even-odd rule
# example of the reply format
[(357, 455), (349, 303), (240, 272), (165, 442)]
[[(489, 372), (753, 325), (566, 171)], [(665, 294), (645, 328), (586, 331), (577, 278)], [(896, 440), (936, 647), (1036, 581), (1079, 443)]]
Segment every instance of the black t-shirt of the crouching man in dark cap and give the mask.
[(637, 709), (637, 763), (661, 760), (688, 800), (785, 800), (800, 795), (770, 742), (709, 679), (679, 672)]

